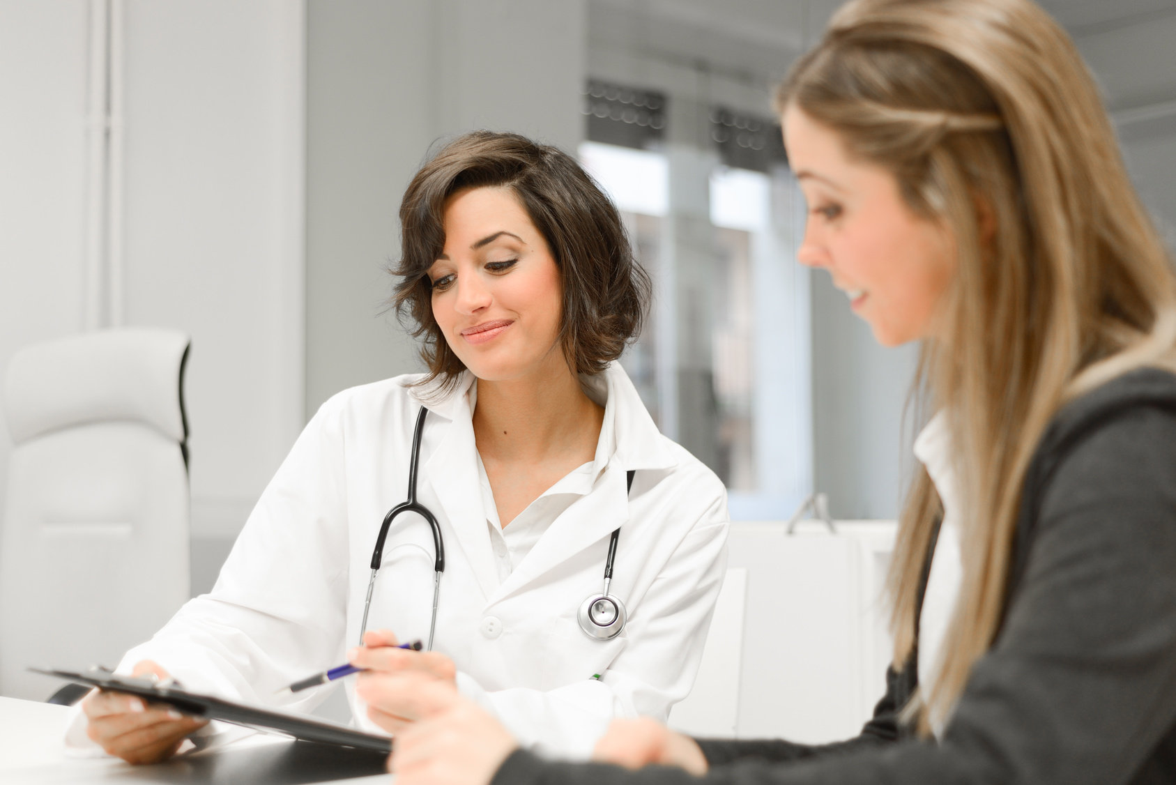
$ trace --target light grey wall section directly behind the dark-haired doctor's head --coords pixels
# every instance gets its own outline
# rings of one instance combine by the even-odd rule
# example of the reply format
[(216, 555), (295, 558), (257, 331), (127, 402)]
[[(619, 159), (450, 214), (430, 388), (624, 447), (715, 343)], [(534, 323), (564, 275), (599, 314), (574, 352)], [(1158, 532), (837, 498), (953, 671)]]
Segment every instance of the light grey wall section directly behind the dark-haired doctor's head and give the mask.
[(419, 370), (385, 312), (405, 186), (436, 140), (582, 137), (582, 0), (310, 0), (306, 413)]

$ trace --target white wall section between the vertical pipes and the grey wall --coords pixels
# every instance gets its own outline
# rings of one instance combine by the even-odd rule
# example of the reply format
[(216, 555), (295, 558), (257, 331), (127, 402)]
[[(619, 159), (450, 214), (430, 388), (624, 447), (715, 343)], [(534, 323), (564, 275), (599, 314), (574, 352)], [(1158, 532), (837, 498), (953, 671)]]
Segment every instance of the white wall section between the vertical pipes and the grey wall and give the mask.
[(235, 533), (302, 427), (303, 25), (127, 7), (127, 324), (192, 333), (193, 533)]

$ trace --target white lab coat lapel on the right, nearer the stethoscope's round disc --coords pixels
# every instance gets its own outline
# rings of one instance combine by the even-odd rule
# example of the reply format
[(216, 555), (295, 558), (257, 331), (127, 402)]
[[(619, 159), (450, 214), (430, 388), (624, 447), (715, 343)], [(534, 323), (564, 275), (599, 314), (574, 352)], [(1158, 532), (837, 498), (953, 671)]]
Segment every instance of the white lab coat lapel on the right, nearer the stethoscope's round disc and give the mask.
[[(500, 600), (522, 588), (543, 573), (557, 567), (595, 543), (608, 539), (613, 530), (629, 520), (629, 500), (624, 470), (614, 461), (604, 470), (592, 493), (576, 499), (543, 533), (527, 558), (503, 581), (490, 601)], [(624, 543), (624, 528), (621, 528)], [(623, 545), (621, 546), (623, 547)], [(604, 551), (601, 551), (601, 579), (604, 577)]]

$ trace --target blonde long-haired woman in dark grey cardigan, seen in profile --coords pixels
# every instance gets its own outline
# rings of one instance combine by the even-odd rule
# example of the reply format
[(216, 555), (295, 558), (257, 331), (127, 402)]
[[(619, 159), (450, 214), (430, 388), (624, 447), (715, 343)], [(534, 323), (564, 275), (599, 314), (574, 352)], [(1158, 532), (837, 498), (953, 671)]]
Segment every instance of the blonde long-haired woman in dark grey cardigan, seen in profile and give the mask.
[(1028, 0), (857, 0), (779, 106), (800, 260), (880, 342), (923, 345), (875, 717), (824, 746), (617, 720), (599, 760), (681, 767), (626, 771), (370, 674), (425, 720), (397, 785), (1176, 780), (1176, 282), (1073, 42)]

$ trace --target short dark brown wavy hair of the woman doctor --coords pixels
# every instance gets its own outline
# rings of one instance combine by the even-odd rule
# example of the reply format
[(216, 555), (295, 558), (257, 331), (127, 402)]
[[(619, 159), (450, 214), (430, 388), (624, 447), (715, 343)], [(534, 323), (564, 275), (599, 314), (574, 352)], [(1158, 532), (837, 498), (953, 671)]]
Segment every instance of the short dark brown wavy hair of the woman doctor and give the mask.
[(596, 374), (641, 332), (649, 275), (633, 258), (616, 206), (563, 151), (513, 133), (461, 135), (416, 173), (400, 202), (401, 257), (393, 306), (421, 338), (421, 359), (443, 387), (466, 370), (433, 318), (426, 274), (445, 247), (442, 213), (466, 188), (499, 187), (522, 204), (555, 259), (563, 290), (559, 340), (575, 373)]

